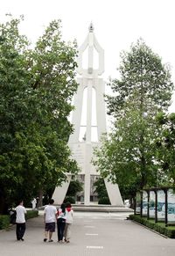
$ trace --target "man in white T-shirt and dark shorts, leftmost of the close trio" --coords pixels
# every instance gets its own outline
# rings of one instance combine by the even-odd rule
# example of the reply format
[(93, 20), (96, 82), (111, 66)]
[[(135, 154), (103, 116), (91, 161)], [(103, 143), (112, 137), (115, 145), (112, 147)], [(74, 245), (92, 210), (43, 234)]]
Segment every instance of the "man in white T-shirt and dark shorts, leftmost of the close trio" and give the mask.
[(44, 210), (44, 222), (45, 222), (45, 238), (44, 242), (53, 242), (52, 233), (55, 231), (55, 223), (57, 218), (57, 208), (53, 206), (54, 200), (49, 200), (49, 205)]

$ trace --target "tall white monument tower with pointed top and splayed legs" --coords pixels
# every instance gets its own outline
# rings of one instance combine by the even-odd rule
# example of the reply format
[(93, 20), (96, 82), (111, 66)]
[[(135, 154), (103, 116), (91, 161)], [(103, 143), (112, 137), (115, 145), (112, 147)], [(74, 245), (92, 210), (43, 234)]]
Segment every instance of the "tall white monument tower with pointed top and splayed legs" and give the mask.
[[(95, 38), (94, 26), (89, 26), (88, 36), (79, 48), (78, 91), (74, 97), (73, 111), (74, 132), (69, 138), (69, 147), (73, 158), (78, 162), (81, 173), (79, 179), (84, 183), (84, 193), (81, 202), (85, 205), (94, 201), (92, 187), (99, 174), (91, 164), (93, 149), (100, 146), (102, 134), (107, 132), (104, 102), (105, 83), (100, 77), (104, 72), (104, 51)], [(71, 177), (61, 187), (56, 187), (53, 199), (56, 203), (64, 201)], [(111, 205), (123, 206), (123, 200), (118, 186), (104, 180)]]

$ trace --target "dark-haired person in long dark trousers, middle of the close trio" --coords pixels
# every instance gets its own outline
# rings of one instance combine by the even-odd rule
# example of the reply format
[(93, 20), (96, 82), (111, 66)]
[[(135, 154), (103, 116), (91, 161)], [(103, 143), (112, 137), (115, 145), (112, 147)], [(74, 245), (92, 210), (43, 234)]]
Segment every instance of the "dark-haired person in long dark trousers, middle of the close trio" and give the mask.
[(57, 231), (58, 231), (58, 242), (63, 243), (63, 235), (66, 224), (66, 206), (62, 203), (57, 212)]

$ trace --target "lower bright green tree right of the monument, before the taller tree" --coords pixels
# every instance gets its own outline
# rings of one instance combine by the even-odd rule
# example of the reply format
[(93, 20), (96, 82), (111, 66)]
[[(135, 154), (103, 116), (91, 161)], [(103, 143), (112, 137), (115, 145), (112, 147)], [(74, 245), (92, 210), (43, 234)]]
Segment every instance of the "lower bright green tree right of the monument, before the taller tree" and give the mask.
[[(151, 116), (144, 116), (140, 121), (135, 104), (125, 108), (124, 117), (118, 119), (117, 127), (109, 136), (102, 140), (100, 150), (95, 150), (94, 164), (103, 178), (110, 179), (120, 187), (123, 200), (135, 196), (138, 189), (145, 185), (154, 186), (156, 182), (157, 165), (154, 161), (155, 139)], [(140, 133), (145, 129), (144, 143), (140, 142)], [(141, 150), (144, 147), (144, 167)]]

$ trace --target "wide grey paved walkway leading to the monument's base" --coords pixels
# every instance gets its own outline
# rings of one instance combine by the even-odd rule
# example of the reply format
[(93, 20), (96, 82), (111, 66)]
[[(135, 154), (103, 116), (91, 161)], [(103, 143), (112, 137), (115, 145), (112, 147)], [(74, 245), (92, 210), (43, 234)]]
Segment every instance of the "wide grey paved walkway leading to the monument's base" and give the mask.
[(126, 220), (124, 213), (75, 212), (71, 243), (44, 243), (43, 216), (27, 221), (25, 241), (16, 241), (15, 226), (0, 231), (1, 256), (174, 256), (175, 239)]

